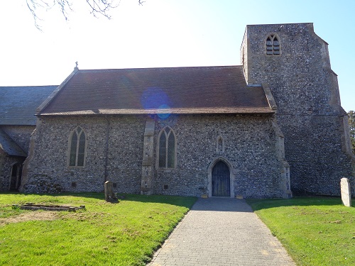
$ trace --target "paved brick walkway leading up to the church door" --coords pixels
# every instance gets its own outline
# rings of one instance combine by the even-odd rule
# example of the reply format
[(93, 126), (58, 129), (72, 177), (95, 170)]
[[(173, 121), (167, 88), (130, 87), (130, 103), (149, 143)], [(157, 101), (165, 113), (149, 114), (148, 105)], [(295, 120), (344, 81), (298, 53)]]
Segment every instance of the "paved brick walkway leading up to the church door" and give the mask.
[(149, 266), (295, 266), (244, 199), (198, 199)]

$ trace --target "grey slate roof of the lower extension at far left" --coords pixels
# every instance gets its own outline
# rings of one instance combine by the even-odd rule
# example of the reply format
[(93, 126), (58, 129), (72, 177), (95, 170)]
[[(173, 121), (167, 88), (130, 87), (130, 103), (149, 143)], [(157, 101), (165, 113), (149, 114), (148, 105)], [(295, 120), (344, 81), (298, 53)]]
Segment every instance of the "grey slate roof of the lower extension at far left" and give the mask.
[(37, 107), (56, 87), (0, 87), (0, 125), (35, 125)]

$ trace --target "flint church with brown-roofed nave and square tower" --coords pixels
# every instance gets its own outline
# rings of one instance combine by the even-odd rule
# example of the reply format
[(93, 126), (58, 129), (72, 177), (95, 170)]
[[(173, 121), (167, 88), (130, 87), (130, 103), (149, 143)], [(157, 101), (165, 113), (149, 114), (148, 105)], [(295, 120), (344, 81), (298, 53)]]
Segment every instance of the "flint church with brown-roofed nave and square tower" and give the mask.
[[(241, 65), (75, 70), (36, 111), (21, 192), (244, 198), (354, 193), (328, 44), (246, 26)], [(6, 179), (7, 177), (4, 177)]]

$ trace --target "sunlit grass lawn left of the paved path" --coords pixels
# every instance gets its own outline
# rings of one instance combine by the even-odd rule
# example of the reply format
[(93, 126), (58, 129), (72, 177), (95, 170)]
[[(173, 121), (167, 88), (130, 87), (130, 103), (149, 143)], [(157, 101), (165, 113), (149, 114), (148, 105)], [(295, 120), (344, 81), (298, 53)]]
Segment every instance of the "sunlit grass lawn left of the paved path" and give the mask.
[[(0, 194), (0, 265), (145, 265), (196, 198), (104, 194)], [(12, 204), (85, 205), (23, 211)]]

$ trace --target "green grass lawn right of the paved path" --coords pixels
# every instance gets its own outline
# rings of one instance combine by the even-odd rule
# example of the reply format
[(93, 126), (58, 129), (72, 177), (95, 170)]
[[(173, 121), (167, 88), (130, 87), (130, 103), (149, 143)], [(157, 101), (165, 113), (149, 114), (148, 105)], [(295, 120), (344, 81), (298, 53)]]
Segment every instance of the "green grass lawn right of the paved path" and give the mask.
[(355, 265), (355, 208), (339, 198), (247, 200), (297, 265)]

